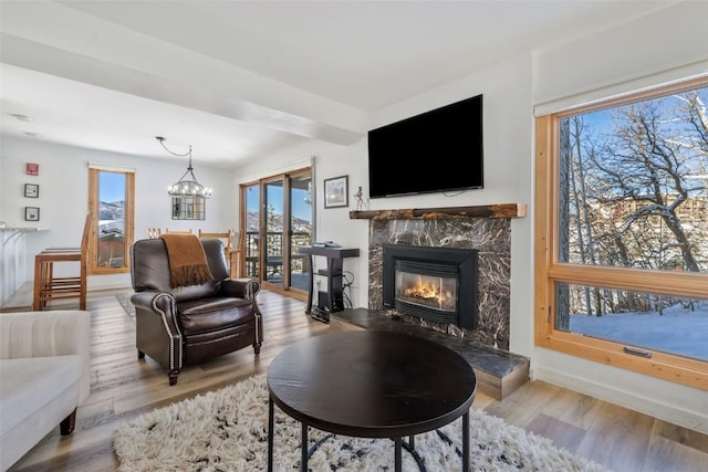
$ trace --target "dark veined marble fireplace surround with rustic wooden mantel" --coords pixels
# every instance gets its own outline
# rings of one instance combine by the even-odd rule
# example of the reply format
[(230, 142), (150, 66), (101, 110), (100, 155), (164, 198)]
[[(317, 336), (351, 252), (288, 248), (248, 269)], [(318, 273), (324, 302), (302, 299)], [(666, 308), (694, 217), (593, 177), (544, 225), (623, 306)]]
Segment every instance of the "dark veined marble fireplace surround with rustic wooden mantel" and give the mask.
[[(483, 346), (509, 350), (511, 218), (525, 217), (525, 204), (351, 211), (368, 219), (368, 310)], [(476, 249), (478, 260), (478, 326), (464, 329), (395, 311), (383, 305), (383, 245), (408, 244)]]

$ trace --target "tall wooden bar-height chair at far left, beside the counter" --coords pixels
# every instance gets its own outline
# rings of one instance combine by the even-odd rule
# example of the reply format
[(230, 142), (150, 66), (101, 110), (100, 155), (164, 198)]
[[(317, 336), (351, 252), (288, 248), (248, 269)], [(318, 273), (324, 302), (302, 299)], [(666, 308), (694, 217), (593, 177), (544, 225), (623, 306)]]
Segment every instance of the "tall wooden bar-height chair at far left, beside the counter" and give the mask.
[[(79, 308), (86, 310), (86, 265), (88, 238), (93, 213), (86, 216), (80, 248), (48, 248), (34, 256), (35, 312), (46, 307), (46, 302), (62, 298), (79, 298)], [(79, 275), (55, 277), (54, 263), (79, 262)]]

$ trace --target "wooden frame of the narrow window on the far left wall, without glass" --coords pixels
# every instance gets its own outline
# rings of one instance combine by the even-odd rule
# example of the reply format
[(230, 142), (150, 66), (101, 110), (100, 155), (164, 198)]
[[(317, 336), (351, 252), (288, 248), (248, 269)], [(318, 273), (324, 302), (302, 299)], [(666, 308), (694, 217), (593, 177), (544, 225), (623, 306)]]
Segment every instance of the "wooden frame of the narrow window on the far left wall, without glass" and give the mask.
[[(124, 233), (124, 264), (119, 268), (97, 265), (98, 253), (98, 221), (101, 219), (101, 202), (98, 198), (100, 172), (123, 174), (125, 176), (125, 233)], [(131, 245), (135, 241), (135, 171), (115, 168), (88, 168), (88, 211), (94, 217), (91, 222), (91, 238), (88, 239), (86, 273), (88, 275), (122, 274), (131, 272)]]

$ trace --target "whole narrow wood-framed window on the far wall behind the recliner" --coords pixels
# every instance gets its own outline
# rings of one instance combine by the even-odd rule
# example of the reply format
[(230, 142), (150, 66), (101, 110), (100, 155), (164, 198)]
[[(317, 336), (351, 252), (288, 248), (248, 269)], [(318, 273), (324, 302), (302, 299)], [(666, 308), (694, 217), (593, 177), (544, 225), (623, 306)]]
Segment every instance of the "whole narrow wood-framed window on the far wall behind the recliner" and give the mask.
[(129, 271), (134, 240), (135, 171), (90, 164), (88, 211), (94, 214), (88, 242), (88, 274)]

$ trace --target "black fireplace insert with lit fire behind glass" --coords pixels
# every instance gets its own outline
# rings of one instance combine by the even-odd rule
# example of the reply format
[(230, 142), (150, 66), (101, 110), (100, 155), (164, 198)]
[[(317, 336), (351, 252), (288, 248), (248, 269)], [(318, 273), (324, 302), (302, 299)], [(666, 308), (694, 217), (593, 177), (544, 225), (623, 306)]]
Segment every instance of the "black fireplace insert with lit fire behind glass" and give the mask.
[(384, 244), (384, 307), (476, 329), (477, 258), (473, 249)]

